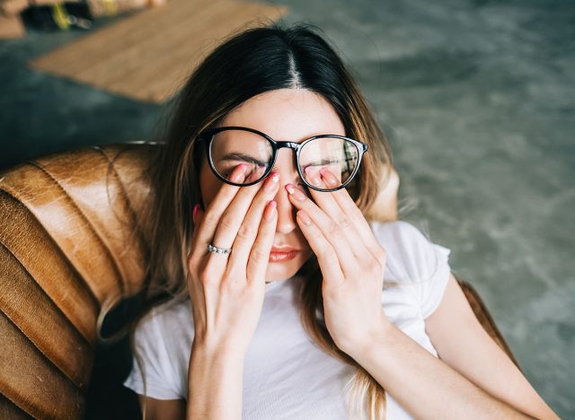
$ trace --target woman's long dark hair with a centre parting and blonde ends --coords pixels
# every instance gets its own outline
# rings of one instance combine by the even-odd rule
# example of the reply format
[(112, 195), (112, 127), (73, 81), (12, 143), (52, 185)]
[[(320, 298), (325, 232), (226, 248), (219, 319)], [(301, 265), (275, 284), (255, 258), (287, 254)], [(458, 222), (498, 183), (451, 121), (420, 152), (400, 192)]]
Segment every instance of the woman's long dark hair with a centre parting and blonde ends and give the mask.
[[(190, 74), (175, 101), (152, 166), (155, 200), (147, 209), (152, 246), (147, 258), (142, 315), (160, 302), (189, 298), (186, 260), (193, 233), (190, 212), (202, 201), (199, 169), (203, 153), (197, 142), (199, 133), (215, 127), (244, 101), (285, 88), (322, 95), (341, 118), (345, 135), (368, 144), (369, 152), (348, 190), (362, 211), (376, 201), (393, 168), (390, 147), (357, 83), (321, 30), (305, 23), (289, 27), (271, 23), (235, 33)], [(349, 413), (356, 412), (354, 417), (358, 418), (367, 412), (371, 420), (385, 417), (385, 390), (335, 346), (325, 326), (323, 278), (317, 258), (309, 258), (298, 275), (305, 276), (297, 293), (305, 330), (324, 352), (357, 368), (349, 382)], [(130, 332), (132, 350), (136, 325), (137, 319)], [(138, 359), (137, 363), (141, 366)]]

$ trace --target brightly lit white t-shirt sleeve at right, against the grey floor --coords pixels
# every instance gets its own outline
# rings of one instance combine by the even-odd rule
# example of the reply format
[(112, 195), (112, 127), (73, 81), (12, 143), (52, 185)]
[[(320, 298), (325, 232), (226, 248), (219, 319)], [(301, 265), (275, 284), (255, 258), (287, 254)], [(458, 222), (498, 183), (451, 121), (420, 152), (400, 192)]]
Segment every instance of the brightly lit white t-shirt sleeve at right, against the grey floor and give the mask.
[(451, 267), (450, 249), (429, 239), (405, 221), (372, 222), (376, 239), (387, 254), (384, 278), (413, 291), (423, 319), (429, 317), (445, 293)]

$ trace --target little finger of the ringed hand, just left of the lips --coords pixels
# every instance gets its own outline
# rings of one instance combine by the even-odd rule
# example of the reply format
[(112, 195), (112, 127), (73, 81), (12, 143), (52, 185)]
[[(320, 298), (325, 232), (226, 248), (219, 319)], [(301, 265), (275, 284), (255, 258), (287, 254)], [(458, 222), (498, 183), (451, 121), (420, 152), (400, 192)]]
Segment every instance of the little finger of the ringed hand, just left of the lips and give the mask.
[(270, 200), (261, 217), (258, 236), (253, 242), (252, 249), (250, 249), (246, 271), (248, 284), (253, 284), (254, 282), (265, 284), (266, 271), (270, 264), (270, 252), (276, 235), (277, 224), (277, 203), (274, 200)]

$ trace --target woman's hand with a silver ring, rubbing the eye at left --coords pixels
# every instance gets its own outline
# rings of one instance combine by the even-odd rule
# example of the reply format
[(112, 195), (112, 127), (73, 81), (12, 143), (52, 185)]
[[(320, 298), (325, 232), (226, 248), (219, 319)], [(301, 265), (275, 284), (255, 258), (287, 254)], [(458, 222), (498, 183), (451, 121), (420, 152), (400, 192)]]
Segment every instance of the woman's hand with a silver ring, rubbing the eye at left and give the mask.
[[(243, 181), (245, 170), (246, 165), (238, 165), (230, 179)], [(247, 352), (265, 296), (278, 222), (273, 201), (278, 185), (276, 173), (250, 187), (223, 183), (206, 212), (198, 209), (194, 215), (187, 279), (194, 347), (242, 358)], [(208, 252), (209, 243), (232, 251), (227, 255)]]

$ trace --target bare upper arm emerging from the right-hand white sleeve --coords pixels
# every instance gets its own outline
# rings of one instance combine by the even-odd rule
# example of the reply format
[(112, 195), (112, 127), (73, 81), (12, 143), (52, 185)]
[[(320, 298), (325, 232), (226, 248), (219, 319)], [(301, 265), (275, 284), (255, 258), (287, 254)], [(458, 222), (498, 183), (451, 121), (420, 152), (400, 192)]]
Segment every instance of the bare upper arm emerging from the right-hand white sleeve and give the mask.
[(559, 418), (475, 317), (451, 275), (426, 331), (445, 363), (495, 398), (536, 418)]

